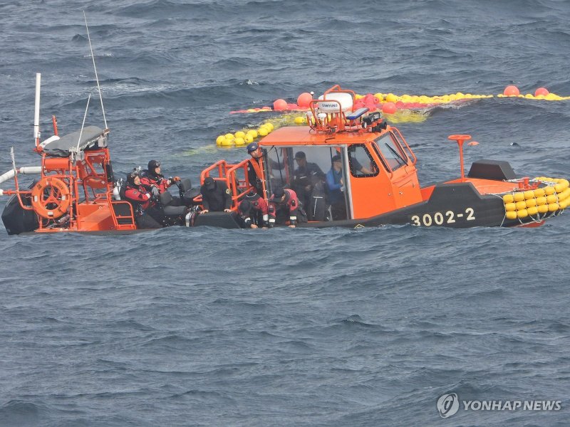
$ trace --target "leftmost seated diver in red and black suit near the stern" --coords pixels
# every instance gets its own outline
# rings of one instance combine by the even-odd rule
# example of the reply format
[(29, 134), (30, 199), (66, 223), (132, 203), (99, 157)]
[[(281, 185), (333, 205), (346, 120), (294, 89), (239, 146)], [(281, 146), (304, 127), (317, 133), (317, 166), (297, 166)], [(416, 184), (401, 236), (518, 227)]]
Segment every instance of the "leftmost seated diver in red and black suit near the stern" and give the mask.
[(140, 172), (133, 171), (127, 176), (125, 186), (125, 199), (133, 205), (135, 222), (138, 228), (162, 228), (162, 225), (153, 217), (155, 212), (154, 199), (158, 196), (158, 189), (147, 191), (140, 182)]

